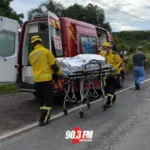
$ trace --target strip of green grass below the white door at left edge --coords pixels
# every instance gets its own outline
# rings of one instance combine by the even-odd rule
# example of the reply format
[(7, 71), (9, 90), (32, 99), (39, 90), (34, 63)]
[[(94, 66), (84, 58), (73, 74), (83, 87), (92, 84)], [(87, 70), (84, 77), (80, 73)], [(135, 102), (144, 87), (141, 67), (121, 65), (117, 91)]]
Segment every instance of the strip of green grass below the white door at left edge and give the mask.
[(0, 85), (0, 94), (17, 93), (19, 91), (19, 88), (15, 84)]

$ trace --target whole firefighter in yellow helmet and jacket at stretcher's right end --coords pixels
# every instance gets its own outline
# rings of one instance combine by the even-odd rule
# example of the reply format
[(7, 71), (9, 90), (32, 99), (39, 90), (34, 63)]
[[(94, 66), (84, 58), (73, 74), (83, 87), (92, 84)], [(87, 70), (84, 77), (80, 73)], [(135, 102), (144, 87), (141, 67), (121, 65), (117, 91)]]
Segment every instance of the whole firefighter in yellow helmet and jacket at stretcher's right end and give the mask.
[(105, 92), (107, 94), (107, 102), (104, 104), (104, 108), (110, 107), (116, 100), (115, 91), (120, 78), (120, 66), (122, 65), (121, 57), (113, 52), (111, 45), (108, 42), (103, 44), (103, 50), (105, 51), (104, 57), (107, 64), (111, 64), (113, 68), (113, 74), (104, 78)]

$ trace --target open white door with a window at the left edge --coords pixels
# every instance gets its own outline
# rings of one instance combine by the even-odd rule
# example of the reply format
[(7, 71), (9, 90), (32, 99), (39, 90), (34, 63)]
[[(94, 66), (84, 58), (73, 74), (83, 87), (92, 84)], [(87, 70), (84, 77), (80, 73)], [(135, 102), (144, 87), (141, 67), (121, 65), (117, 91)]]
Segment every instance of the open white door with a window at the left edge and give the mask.
[(17, 21), (0, 16), (0, 82), (16, 82), (18, 26)]

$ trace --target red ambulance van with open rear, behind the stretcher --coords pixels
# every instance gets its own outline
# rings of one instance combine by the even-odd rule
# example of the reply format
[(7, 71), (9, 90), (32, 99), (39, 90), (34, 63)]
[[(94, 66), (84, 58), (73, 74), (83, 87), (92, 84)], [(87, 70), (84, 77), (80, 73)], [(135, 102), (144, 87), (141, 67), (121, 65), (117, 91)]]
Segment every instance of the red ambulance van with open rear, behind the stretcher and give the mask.
[(106, 41), (111, 42), (114, 50), (117, 50), (111, 34), (104, 28), (66, 17), (59, 18), (52, 12), (48, 12), (48, 16), (39, 14), (39, 17), (23, 24), (20, 34), (17, 84), (22, 92), (35, 92), (32, 67), (28, 60), (33, 50), (30, 42), (33, 35), (42, 38), (42, 44), (52, 51), (55, 58), (87, 54), (87, 42), (92, 44), (93, 54), (97, 54), (99, 45)]

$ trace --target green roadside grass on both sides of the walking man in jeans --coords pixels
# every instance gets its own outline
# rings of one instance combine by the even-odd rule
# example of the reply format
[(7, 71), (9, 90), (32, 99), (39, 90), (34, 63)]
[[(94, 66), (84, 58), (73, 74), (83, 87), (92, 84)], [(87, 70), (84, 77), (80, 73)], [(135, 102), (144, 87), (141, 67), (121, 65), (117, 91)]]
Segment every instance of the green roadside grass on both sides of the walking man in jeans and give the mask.
[[(150, 53), (149, 52), (144, 52), (144, 54), (147, 57), (147, 62), (144, 64), (144, 67), (145, 67), (145, 69), (150, 68)], [(132, 67), (133, 67), (132, 56), (133, 56), (133, 54), (129, 55), (129, 62), (126, 65), (126, 72), (127, 73), (132, 72)]]

